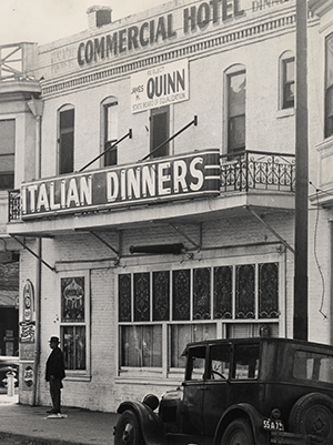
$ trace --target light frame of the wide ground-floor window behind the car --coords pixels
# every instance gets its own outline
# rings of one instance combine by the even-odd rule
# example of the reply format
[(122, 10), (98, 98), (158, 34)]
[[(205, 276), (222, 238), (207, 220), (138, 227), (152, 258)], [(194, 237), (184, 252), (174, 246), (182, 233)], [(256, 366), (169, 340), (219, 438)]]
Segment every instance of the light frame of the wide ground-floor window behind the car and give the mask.
[[(213, 318), (213, 304), (214, 304), (214, 292), (213, 292), (213, 270), (214, 267), (221, 266), (221, 265), (230, 265), (232, 263), (232, 267), (235, 269), (240, 264), (256, 264), (256, 269), (259, 267), (260, 264), (263, 263), (278, 263), (279, 264), (279, 294), (278, 294), (278, 304), (279, 304), (279, 311), (283, 311), (284, 307), (284, 287), (283, 287), (283, 282), (284, 282), (284, 255), (279, 255), (279, 254), (258, 254), (254, 256), (250, 257), (242, 257), (242, 256), (236, 256), (236, 257), (230, 257), (230, 259), (214, 259), (214, 260), (202, 260), (199, 265), (194, 265), (191, 263), (186, 264), (165, 264), (162, 265), (160, 264), (159, 266), (154, 266), (152, 264), (150, 265), (127, 265), (127, 271), (119, 271), (115, 276), (115, 295), (117, 295), (117, 304), (115, 304), (115, 317), (117, 317), (117, 325), (118, 325), (118, 354), (119, 356), (117, 357), (118, 360), (118, 378), (127, 378), (127, 377), (132, 377), (132, 378), (142, 378), (142, 377), (152, 377), (153, 375), (155, 377), (162, 376), (163, 378), (182, 378), (184, 370), (183, 367), (172, 367), (172, 342), (171, 342), (171, 330), (174, 330), (175, 326), (188, 326), (185, 327), (185, 331), (188, 332), (189, 330), (192, 331), (195, 326), (200, 327), (201, 331), (201, 337), (199, 338), (191, 338), (190, 341), (185, 341), (185, 343), (190, 343), (192, 341), (201, 341), (201, 340), (211, 340), (213, 336), (211, 335), (211, 332), (215, 332), (215, 337), (216, 338), (225, 338), (228, 335), (229, 327), (234, 326), (241, 326), (244, 324), (248, 327), (249, 331), (249, 336), (251, 335), (258, 335), (260, 326), (262, 324), (271, 325), (271, 326), (278, 326), (275, 328), (275, 332), (273, 333), (274, 335), (283, 335), (284, 328), (285, 328), (285, 322), (284, 320), (281, 320), (281, 314), (279, 312), (278, 316), (274, 318), (260, 318), (256, 316), (255, 318), (250, 318), (250, 320), (236, 320), (235, 317), (232, 318)], [(211, 314), (212, 316), (210, 320), (194, 320), (193, 318), (193, 271), (195, 269), (204, 269), (204, 267), (210, 267), (211, 269)], [(170, 317), (167, 321), (149, 321), (149, 322), (135, 322), (133, 318), (133, 276), (135, 273), (150, 273), (150, 276), (152, 277), (153, 273), (157, 271), (168, 271), (169, 275), (169, 281), (170, 283), (172, 282), (172, 273), (178, 270), (191, 270), (191, 317), (190, 320), (185, 321), (174, 321), (172, 320), (172, 284), (170, 285), (169, 290), (169, 301), (171, 307), (169, 309)], [(121, 274), (128, 274), (130, 276), (130, 282), (131, 282), (131, 320), (121, 322), (119, 321), (119, 309), (120, 309), (120, 302), (119, 302), (119, 275)], [(233, 281), (234, 281), (234, 275), (233, 275)], [(150, 290), (152, 290), (152, 280), (150, 282)], [(259, 287), (259, 275), (256, 275), (256, 289)], [(233, 289), (233, 294), (235, 293), (235, 287)], [(256, 291), (255, 299), (256, 299), (256, 313), (259, 311), (259, 290)], [(233, 301), (235, 296), (233, 295)], [(150, 293), (150, 313), (151, 313), (151, 318), (152, 320), (152, 303), (153, 303), (153, 296), (152, 292)], [(162, 368), (134, 368), (130, 366), (121, 366), (121, 328), (122, 325), (140, 325), (140, 324), (161, 324), (162, 325), (162, 341), (161, 341), (161, 347), (162, 347)], [(191, 327), (192, 326), (192, 327)], [(213, 331), (211, 331), (213, 330)], [(278, 332), (276, 332), (278, 331)], [(208, 336), (205, 336), (208, 335)], [(182, 351), (178, 351), (180, 354)]]

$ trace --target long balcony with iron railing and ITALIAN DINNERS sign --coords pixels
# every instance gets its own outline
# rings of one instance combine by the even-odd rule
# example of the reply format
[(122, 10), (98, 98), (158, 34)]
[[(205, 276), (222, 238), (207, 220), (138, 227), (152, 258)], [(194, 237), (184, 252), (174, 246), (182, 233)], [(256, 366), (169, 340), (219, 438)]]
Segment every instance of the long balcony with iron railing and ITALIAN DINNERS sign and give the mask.
[(292, 154), (220, 155), (211, 149), (23, 183), (9, 192), (8, 231), (54, 235), (151, 221), (192, 223), (212, 213), (240, 215), (248, 206), (293, 211), (294, 186)]

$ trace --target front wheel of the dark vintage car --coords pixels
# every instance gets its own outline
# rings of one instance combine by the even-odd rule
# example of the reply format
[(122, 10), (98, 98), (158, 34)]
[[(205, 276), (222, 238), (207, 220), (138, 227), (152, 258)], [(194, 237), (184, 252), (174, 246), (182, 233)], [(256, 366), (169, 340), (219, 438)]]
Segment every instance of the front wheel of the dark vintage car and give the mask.
[(124, 411), (117, 423), (114, 445), (144, 445), (135, 413)]

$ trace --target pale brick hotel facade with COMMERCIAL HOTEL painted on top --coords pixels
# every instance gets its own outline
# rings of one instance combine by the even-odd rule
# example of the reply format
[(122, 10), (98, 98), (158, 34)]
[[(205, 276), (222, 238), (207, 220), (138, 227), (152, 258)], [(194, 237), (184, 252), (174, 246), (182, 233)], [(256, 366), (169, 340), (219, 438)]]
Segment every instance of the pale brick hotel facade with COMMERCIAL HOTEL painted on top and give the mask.
[[(325, 343), (331, 9), (311, 2), (307, 23), (309, 336)], [(293, 336), (295, 2), (88, 17), (87, 31), (33, 47), (22, 104), (34, 133), (8, 234), (21, 246), (20, 401), (49, 402), (58, 335), (63, 404), (114, 411), (178, 384), (186, 342), (261, 325)]]

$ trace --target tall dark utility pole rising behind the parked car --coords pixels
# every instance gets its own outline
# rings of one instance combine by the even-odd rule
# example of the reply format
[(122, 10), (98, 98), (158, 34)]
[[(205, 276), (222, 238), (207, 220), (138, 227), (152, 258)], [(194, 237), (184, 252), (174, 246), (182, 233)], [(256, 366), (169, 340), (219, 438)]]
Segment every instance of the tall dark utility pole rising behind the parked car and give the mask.
[(294, 338), (307, 340), (307, 0), (296, 0)]

